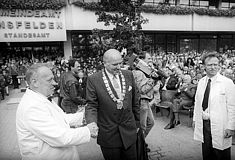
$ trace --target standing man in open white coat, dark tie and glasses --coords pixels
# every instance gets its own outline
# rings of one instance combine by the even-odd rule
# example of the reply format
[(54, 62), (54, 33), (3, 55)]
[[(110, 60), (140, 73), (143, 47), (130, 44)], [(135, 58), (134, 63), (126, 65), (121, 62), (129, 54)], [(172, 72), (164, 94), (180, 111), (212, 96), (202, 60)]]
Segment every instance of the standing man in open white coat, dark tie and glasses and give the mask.
[[(216, 53), (207, 53), (202, 60), (206, 76), (198, 82), (195, 96), (194, 139), (202, 142), (204, 160), (230, 160), (235, 130), (235, 86), (231, 79), (219, 74)], [(209, 96), (205, 96), (209, 81)]]

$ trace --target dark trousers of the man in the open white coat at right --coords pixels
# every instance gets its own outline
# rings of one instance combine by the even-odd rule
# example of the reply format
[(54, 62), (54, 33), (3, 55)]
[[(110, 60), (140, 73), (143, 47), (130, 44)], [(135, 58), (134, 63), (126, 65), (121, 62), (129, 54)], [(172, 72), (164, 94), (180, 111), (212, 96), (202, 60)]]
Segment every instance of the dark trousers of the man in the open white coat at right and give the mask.
[(209, 120), (203, 120), (202, 157), (203, 160), (231, 160), (231, 148), (224, 150), (212, 146), (211, 125)]

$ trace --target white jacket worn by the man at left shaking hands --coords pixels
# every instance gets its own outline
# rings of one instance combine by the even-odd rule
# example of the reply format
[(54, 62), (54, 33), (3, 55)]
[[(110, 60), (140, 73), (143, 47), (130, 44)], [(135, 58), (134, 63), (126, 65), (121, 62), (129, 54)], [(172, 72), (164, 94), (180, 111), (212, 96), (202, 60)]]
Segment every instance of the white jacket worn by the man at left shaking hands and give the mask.
[(22, 159), (79, 160), (76, 145), (90, 141), (88, 127), (81, 124), (83, 113), (65, 114), (55, 103), (30, 89), (16, 113), (16, 131)]

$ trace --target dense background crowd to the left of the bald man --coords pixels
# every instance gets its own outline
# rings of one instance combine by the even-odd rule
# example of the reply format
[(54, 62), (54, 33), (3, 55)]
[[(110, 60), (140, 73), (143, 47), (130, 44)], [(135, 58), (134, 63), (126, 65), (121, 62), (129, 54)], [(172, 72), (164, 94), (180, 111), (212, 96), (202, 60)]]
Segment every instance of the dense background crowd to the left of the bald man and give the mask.
[[(24, 54), (23, 54), (24, 55)], [(71, 59), (71, 58), (70, 58)], [(70, 60), (69, 59), (69, 60)], [(59, 81), (62, 72), (69, 67), (69, 60), (63, 56), (44, 55), (38, 56), (2, 56), (0, 59), (0, 100), (4, 100), (9, 95), (9, 89), (18, 89), (21, 83), (24, 83), (25, 74), (29, 66), (35, 63), (48, 63), (55, 75), (55, 81)], [(100, 69), (102, 61), (100, 57), (94, 58), (78, 58), (79, 70), (85, 75), (91, 75)], [(27, 85), (27, 84), (26, 84)]]

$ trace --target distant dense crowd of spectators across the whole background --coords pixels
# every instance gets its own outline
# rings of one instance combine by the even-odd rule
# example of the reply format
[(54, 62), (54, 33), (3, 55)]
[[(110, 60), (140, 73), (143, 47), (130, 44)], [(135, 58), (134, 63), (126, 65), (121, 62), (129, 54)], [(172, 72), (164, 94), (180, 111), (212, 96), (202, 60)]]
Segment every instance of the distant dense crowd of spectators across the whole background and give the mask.
[[(204, 52), (203, 52), (204, 53)], [(189, 74), (192, 78), (192, 81), (200, 79), (204, 72), (204, 66), (202, 65), (201, 55), (196, 51), (191, 51), (184, 54), (174, 54), (174, 53), (152, 53), (153, 64), (157, 68), (161, 68), (168, 72), (168, 68), (178, 67), (183, 74)], [(0, 86), (1, 89), (4, 88), (4, 93), (2, 94), (1, 99), (4, 99), (5, 95), (9, 95), (8, 86), (13, 88), (18, 88), (21, 83), (21, 76), (24, 76), (27, 68), (33, 63), (50, 63), (53, 68), (53, 73), (55, 73), (56, 78), (63, 71), (68, 68), (68, 61), (70, 57), (66, 60), (63, 56), (58, 56), (56, 53), (54, 55), (41, 55), (38, 57), (14, 57), (7, 58), (1, 57), (0, 59)], [(79, 62), (79, 70), (82, 70), (84, 76), (89, 76), (93, 73), (96, 73), (102, 68), (102, 57), (89, 57), (87, 59), (80, 57), (76, 58)], [(128, 68), (124, 62), (123, 69)], [(220, 73), (226, 75), (235, 81), (235, 53), (225, 52), (220, 53)], [(17, 78), (18, 76), (18, 78)], [(3, 78), (4, 77), (4, 78)], [(5, 81), (5, 82), (3, 82)], [(18, 81), (18, 82), (17, 82)], [(5, 87), (6, 88), (5, 88)], [(1, 90), (3, 93), (3, 90)]]

